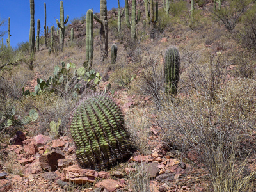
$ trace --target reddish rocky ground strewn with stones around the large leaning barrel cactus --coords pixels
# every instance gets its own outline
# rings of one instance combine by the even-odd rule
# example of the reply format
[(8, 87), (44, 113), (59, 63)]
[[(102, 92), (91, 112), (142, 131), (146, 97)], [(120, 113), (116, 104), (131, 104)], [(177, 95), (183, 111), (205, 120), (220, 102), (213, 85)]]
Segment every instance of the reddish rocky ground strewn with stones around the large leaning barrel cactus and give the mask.
[[(150, 102), (140, 95), (128, 96), (125, 90), (119, 90), (113, 97), (124, 113), (135, 105), (145, 106)], [(51, 140), (49, 136), (29, 137), (26, 132), (18, 131), (10, 141), (13, 144), (1, 145), (0, 152), (3, 156), (17, 154), (13, 163), (23, 166), (20, 174), (23, 177), (4, 172), (0, 164), (0, 191), (140, 191), (134, 188), (138, 179), (145, 184), (150, 179), (148, 190), (152, 192), (205, 191), (207, 174), (193, 166), (194, 161), (197, 163), (195, 153), (184, 158), (168, 152), (161, 143), (158, 129), (150, 127), (152, 154), (144, 156), (134, 152), (121, 165), (100, 172), (79, 168), (70, 136)]]

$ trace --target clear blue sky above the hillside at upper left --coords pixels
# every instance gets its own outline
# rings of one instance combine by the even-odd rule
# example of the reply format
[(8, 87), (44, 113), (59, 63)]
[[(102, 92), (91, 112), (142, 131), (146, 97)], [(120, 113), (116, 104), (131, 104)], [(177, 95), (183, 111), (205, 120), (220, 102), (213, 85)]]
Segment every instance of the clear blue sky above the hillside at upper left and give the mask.
[[(44, 30), (44, 3), (46, 3), (47, 26), (56, 25), (56, 19), (60, 17), (60, 1), (59, 0), (35, 0), (35, 31), (37, 19), (40, 19), (40, 35)], [(64, 17), (69, 15), (70, 20), (86, 15), (88, 9), (93, 8), (95, 12), (100, 11), (100, 0), (63, 0)], [(124, 6), (124, 0), (120, 0), (120, 6)], [(117, 0), (108, 0), (107, 8), (111, 10), (117, 8)], [(16, 47), (17, 43), (25, 42), (29, 39), (30, 28), (30, 4), (29, 0), (8, 0), (1, 1), (0, 17), (6, 19), (6, 23), (1, 31), (8, 30), (8, 17), (11, 19), (11, 46)], [(3, 37), (4, 44), (8, 33)]]

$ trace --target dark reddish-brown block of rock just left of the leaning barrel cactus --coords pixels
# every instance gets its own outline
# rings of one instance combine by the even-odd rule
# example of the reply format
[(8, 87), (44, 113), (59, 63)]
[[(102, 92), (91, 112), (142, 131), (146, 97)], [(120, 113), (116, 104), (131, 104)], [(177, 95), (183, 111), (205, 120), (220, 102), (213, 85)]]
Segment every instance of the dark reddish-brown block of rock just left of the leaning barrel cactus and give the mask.
[(43, 170), (54, 172), (57, 170), (58, 159), (64, 159), (65, 155), (60, 150), (52, 149), (39, 157), (40, 166)]

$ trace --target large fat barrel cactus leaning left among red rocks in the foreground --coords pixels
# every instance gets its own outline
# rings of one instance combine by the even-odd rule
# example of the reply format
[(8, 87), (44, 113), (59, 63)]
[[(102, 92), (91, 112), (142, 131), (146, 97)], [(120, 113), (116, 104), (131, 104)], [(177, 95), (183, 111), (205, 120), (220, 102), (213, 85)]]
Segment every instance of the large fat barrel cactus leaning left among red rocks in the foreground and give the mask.
[(72, 115), (70, 131), (82, 168), (100, 170), (129, 156), (124, 117), (106, 95), (93, 94), (81, 100)]

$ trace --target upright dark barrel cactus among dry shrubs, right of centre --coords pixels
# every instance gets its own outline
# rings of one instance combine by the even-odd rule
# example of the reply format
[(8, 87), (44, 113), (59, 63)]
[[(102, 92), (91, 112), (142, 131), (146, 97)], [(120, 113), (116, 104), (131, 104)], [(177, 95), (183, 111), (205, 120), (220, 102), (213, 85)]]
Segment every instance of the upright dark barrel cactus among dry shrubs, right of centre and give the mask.
[(180, 56), (175, 47), (170, 47), (165, 52), (164, 81), (165, 92), (176, 94), (179, 81)]

